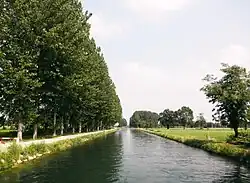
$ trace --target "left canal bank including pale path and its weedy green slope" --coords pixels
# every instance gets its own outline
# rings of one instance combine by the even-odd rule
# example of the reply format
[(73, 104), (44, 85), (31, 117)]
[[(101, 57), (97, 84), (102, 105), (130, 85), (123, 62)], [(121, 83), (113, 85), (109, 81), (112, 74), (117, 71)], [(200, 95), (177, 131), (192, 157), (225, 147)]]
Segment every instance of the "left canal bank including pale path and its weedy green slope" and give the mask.
[(19, 144), (5, 144), (4, 150), (0, 152), (0, 173), (28, 161), (39, 159), (44, 155), (65, 151), (82, 145), (98, 137), (114, 133), (115, 131), (116, 129), (111, 129), (52, 139), (21, 142)]

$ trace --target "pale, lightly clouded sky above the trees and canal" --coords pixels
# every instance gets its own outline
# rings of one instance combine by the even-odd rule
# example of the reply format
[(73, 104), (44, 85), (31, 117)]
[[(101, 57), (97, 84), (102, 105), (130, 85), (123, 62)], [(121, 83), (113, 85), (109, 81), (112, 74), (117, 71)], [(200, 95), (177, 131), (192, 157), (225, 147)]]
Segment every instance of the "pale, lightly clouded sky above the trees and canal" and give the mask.
[(182, 106), (212, 119), (200, 88), (221, 63), (250, 69), (249, 0), (85, 0), (129, 120)]

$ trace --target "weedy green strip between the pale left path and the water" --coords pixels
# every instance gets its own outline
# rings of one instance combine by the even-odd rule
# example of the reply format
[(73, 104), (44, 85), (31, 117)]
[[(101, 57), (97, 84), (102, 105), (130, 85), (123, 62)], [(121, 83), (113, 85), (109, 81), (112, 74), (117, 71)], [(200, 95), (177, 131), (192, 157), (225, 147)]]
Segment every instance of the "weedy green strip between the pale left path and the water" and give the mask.
[(56, 143), (31, 144), (27, 147), (22, 147), (16, 143), (13, 143), (8, 147), (7, 152), (0, 153), (0, 172), (18, 166), (21, 163), (40, 158), (46, 154), (64, 151), (72, 147), (82, 145), (98, 137), (114, 133), (115, 131), (115, 129), (112, 129), (105, 132), (77, 137), (74, 139), (61, 140)]

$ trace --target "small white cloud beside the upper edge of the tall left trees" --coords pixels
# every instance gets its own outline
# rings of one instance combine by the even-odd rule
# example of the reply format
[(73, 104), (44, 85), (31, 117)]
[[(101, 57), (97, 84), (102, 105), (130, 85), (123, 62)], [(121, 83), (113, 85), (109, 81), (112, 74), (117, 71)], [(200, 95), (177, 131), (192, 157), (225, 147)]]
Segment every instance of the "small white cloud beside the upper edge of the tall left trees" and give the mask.
[(94, 14), (89, 22), (91, 24), (91, 36), (97, 38), (97, 40), (110, 39), (124, 33), (122, 25), (104, 19), (104, 16), (101, 14)]

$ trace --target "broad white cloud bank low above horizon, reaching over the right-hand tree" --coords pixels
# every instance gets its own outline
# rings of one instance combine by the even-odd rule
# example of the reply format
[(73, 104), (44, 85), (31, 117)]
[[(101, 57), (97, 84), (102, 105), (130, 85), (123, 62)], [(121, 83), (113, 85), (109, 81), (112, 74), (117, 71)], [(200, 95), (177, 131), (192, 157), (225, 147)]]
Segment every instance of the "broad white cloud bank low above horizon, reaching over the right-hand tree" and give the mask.
[(124, 116), (129, 119), (135, 110), (161, 112), (165, 108), (176, 110), (187, 105), (194, 110), (195, 116), (204, 113), (207, 120), (212, 120), (213, 105), (200, 91), (205, 84), (202, 78), (213, 73), (221, 76), (222, 61), (250, 66), (250, 50), (242, 45), (230, 44), (217, 53), (213, 62), (188, 58), (176, 68), (146, 62), (146, 58), (144, 62), (123, 62), (119, 67), (111, 68)]

